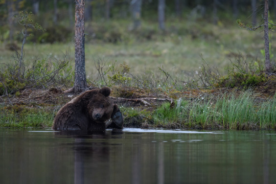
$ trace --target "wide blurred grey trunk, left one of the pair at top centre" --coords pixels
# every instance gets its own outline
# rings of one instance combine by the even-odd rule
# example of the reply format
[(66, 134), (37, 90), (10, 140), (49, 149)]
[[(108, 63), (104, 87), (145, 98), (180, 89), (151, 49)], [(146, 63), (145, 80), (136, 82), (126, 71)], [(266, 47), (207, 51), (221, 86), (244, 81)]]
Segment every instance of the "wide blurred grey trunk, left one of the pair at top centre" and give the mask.
[(133, 30), (141, 25), (141, 6), (142, 0), (132, 0), (130, 2), (132, 17), (133, 17)]

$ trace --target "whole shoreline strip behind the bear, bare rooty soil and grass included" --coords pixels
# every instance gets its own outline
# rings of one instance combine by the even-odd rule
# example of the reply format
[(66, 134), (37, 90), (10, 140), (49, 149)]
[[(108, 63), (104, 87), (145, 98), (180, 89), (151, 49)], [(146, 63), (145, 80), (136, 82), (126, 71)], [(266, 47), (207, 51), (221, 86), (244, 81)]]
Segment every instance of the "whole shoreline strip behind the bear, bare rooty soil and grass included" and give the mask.
[[(276, 130), (276, 96), (234, 89), (110, 88), (126, 128)], [(63, 91), (56, 87), (25, 89), (17, 96), (2, 98), (0, 127), (51, 127), (56, 112), (75, 97)]]

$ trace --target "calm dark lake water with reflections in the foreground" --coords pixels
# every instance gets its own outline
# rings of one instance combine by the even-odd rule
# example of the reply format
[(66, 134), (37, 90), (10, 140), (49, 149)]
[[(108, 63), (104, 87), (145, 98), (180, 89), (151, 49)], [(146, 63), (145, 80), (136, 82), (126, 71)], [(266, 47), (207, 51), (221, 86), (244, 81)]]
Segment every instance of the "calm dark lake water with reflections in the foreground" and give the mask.
[(275, 131), (0, 129), (0, 183), (275, 183)]

